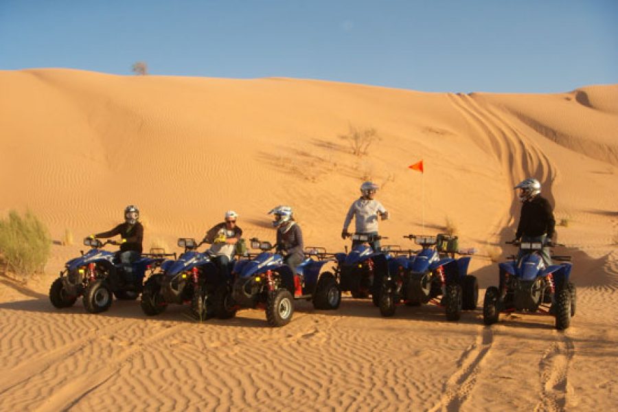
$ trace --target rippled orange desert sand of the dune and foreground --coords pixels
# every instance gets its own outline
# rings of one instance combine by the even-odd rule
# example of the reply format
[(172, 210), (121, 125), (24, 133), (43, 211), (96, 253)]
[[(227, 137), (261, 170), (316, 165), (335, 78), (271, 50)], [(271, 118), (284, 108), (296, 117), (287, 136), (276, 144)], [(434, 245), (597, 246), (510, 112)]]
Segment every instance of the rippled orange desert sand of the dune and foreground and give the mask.
[[(380, 137), (363, 157), (339, 136)], [(557, 94), (420, 93), (317, 80), (0, 71), (0, 215), (34, 211), (55, 240), (46, 275), (0, 276), (2, 411), (591, 411), (618, 409), (618, 85)], [(420, 159), (425, 173), (407, 169)], [(174, 306), (147, 318), (115, 301), (87, 314), (49, 303), (49, 284), (128, 204), (144, 246), (201, 238), (227, 209), (244, 236), (273, 240), (266, 212), (295, 208), (307, 245), (339, 234), (363, 180), (381, 185), (388, 243), (455, 226), (472, 274), (513, 250), (512, 187), (527, 176), (556, 205), (560, 254), (573, 256), (577, 314), (480, 310), (447, 322), (437, 306), (380, 317), (369, 301), (334, 312), (301, 302), (198, 323)], [(424, 185), (425, 224), (422, 227)], [(498, 257), (498, 255), (500, 255)], [(1, 269), (1, 267), (0, 267)], [(483, 294), (479, 298), (482, 302)]]

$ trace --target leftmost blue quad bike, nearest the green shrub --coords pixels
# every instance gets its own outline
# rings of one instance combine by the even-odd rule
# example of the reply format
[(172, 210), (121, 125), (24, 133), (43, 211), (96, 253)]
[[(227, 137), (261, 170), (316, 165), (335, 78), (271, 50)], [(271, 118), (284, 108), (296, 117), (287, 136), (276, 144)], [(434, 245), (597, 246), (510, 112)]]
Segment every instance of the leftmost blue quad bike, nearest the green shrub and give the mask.
[(132, 263), (133, 273), (125, 273), (118, 260), (118, 253), (103, 250), (107, 244), (117, 245), (114, 240), (101, 242), (98, 239), (85, 238), (84, 245), (91, 249), (78, 258), (65, 264), (65, 270), (49, 288), (49, 300), (56, 308), (73, 306), (82, 296), (84, 308), (90, 313), (108, 310), (114, 295), (117, 299), (135, 300), (142, 291), (142, 282), (146, 272), (154, 273), (165, 260), (162, 249), (152, 249), (151, 253), (142, 253)]

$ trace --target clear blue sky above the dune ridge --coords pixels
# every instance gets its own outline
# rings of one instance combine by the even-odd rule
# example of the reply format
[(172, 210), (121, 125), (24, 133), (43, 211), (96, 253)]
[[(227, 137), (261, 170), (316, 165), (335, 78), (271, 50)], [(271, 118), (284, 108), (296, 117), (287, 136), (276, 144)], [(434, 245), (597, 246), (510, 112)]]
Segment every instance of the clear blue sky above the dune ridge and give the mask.
[(0, 69), (336, 80), (421, 91), (618, 83), (618, 0), (0, 0)]

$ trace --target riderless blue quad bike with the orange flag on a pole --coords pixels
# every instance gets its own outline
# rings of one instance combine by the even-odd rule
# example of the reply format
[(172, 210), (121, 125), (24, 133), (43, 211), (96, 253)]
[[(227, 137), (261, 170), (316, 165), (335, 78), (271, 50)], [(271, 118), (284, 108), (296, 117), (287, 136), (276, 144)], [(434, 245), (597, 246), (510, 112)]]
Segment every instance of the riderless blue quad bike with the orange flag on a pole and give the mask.
[[(477, 278), (468, 275), (473, 249), (459, 251), (457, 236), (407, 235), (422, 248), (389, 261), (380, 296), (380, 314), (391, 317), (400, 304), (420, 306), (430, 301), (444, 306), (446, 319), (458, 321), (462, 310), (474, 310), (479, 299)], [(455, 259), (455, 254), (466, 255)], [(442, 296), (442, 299), (437, 299)]]

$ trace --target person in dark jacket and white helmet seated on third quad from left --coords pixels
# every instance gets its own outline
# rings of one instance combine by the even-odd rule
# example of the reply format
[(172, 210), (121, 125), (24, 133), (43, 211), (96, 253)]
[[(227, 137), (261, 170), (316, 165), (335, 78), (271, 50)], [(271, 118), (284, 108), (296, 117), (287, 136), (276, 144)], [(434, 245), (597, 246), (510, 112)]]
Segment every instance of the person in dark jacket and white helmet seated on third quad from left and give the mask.
[[(268, 214), (273, 214), (273, 227), (277, 228), (277, 253), (284, 256), (284, 263), (290, 266), (292, 273), (296, 273), (298, 266), (304, 259), (303, 232), (294, 220), (294, 211), (290, 206), (277, 206)], [(294, 289), (290, 289), (294, 292)]]

